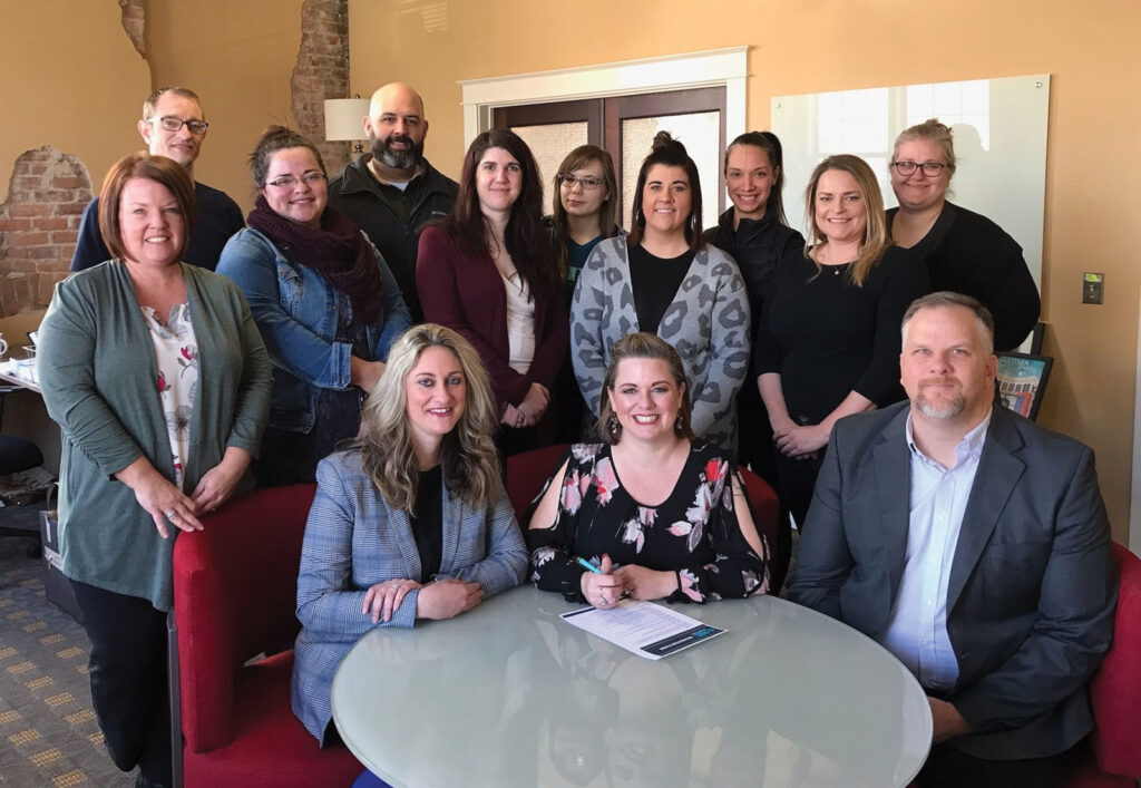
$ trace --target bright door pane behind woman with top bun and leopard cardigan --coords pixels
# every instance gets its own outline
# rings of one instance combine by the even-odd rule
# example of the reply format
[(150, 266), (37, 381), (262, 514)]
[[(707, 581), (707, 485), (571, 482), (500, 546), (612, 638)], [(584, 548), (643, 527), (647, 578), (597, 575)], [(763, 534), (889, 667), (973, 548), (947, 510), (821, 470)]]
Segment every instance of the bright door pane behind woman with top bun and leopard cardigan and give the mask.
[(631, 208), (638, 170), (649, 155), (654, 135), (669, 131), (686, 146), (697, 166), (702, 185), (702, 226), (717, 224), (721, 168), (721, 115), (719, 112), (694, 112), (683, 115), (658, 115), (622, 121), (622, 222), (631, 227)]

